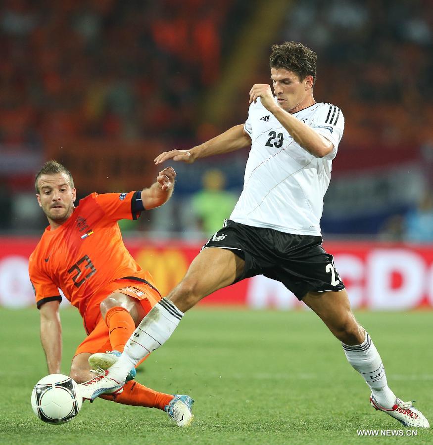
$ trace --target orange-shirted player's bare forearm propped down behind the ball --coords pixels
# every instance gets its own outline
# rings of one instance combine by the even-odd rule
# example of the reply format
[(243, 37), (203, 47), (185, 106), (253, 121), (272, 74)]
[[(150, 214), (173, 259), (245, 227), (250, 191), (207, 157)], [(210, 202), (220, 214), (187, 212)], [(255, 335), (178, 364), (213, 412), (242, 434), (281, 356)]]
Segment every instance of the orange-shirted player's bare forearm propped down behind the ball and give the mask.
[(60, 373), (62, 359), (62, 326), (58, 312), (60, 303), (48, 301), (41, 306), (41, 343), (47, 357), (48, 372)]

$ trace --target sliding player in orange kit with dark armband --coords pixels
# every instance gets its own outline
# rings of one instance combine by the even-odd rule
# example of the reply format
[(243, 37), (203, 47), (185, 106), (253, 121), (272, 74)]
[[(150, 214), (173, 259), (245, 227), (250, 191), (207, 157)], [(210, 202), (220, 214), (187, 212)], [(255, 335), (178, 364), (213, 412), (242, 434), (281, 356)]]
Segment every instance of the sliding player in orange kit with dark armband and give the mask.
[[(173, 192), (175, 177), (168, 167), (149, 188), (92, 193), (75, 207), (74, 181), (64, 166), (48, 161), (36, 175), (36, 197), (49, 225), (30, 256), (29, 275), (41, 313), (41, 342), (50, 374), (60, 372), (59, 289), (80, 312), (87, 333), (72, 359), (70, 376), (77, 383), (100, 378), (97, 371), (96, 376), (92, 373), (89, 357), (113, 351), (116, 359), (136, 326), (161, 299), (150, 273), (123, 244), (117, 221), (136, 220), (144, 210), (164, 204)], [(130, 378), (134, 376), (135, 370)], [(165, 410), (179, 426), (192, 421), (189, 396), (158, 393), (134, 380), (123, 391), (101, 397)]]

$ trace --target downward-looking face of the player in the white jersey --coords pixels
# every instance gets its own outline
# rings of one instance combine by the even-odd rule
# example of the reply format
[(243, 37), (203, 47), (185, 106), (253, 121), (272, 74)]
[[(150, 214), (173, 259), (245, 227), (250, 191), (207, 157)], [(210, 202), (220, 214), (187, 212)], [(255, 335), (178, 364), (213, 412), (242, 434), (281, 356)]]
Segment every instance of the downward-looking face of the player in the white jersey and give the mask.
[(285, 111), (298, 111), (312, 105), (313, 76), (299, 80), (296, 73), (285, 68), (271, 68), (271, 79), (278, 104)]

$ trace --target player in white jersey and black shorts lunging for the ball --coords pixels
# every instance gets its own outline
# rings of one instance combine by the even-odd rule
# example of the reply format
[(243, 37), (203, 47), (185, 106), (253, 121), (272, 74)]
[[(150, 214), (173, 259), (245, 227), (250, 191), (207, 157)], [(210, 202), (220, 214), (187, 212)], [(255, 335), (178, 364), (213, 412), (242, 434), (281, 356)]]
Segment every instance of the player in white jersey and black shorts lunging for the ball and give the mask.
[[(230, 219), (204, 245), (184, 279), (143, 319), (94, 389), (122, 387), (137, 362), (165, 343), (184, 312), (203, 297), (263, 274), (281, 281), (324, 321), (370, 387), (373, 407), (403, 425), (428, 428), (412, 402), (401, 401), (388, 387), (382, 359), (351, 312), (333, 257), (322, 247), (319, 221), (343, 114), (313, 97), (316, 53), (311, 49), (295, 42), (274, 45), (270, 68), (273, 91), (267, 84), (253, 85), (245, 125), (155, 159), (156, 164), (191, 163), (251, 145), (243, 191)], [(91, 399), (92, 391), (85, 397)]]

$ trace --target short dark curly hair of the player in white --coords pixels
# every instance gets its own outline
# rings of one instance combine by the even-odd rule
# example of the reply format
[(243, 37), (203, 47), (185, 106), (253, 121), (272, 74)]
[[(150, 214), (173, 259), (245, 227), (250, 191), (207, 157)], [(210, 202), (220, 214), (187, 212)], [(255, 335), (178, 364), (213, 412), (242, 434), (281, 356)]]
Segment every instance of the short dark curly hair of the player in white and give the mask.
[(313, 76), (313, 87), (316, 84), (317, 54), (310, 48), (298, 42), (284, 42), (281, 45), (273, 45), (269, 57), (271, 68), (285, 68), (293, 71), (299, 80), (307, 76)]

